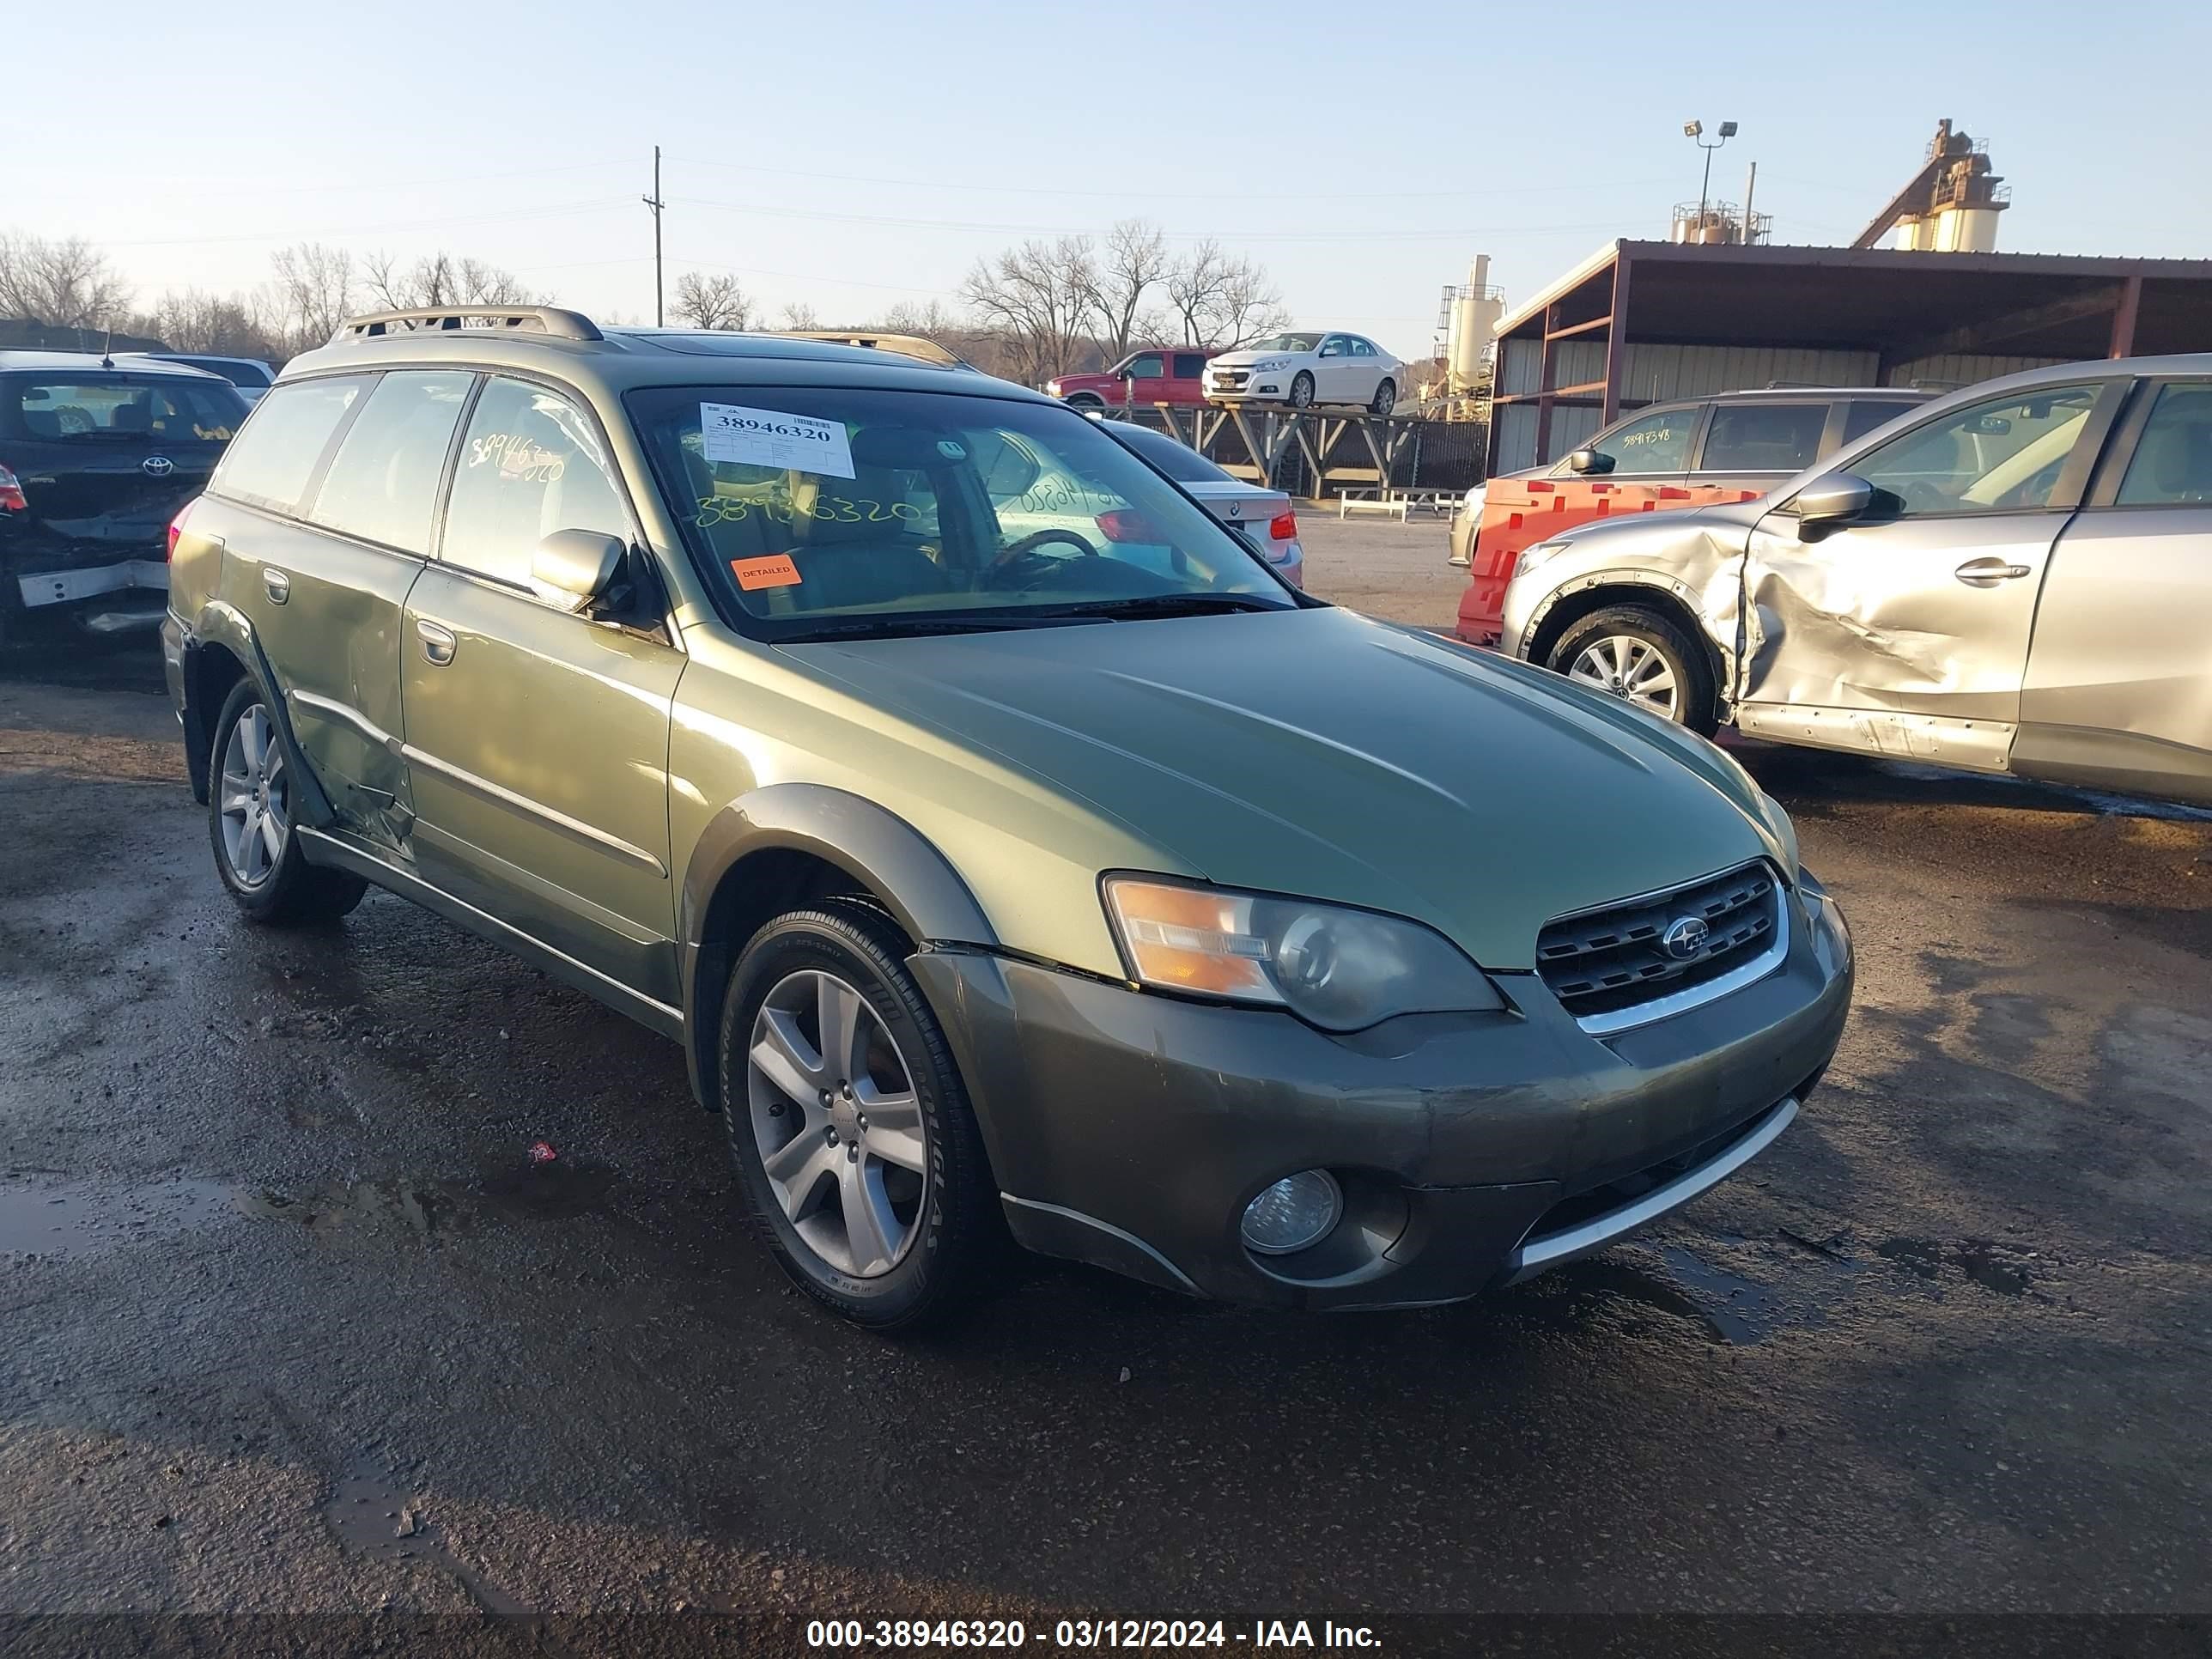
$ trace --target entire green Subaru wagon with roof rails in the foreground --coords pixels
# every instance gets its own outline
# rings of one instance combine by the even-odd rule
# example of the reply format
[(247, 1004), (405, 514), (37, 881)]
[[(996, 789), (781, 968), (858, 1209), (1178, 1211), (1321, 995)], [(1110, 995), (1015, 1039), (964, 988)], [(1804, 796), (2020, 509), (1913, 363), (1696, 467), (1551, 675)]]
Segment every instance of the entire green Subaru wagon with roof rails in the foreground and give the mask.
[(358, 319), (170, 542), (246, 916), (385, 887), (675, 1037), (867, 1325), (1009, 1232), (1471, 1296), (1741, 1168), (1843, 1031), (1843, 918), (1717, 748), (1301, 595), (920, 341)]

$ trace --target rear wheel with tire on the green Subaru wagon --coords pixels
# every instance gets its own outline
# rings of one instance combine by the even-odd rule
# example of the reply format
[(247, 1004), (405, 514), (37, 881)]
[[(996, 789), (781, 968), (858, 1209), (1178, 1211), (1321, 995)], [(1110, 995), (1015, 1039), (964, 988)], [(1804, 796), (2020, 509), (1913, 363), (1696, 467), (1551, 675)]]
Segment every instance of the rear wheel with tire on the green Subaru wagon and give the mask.
[(307, 863), (294, 830), (292, 763), (261, 688), (241, 679), (215, 719), (208, 754), (208, 841), (215, 874), (250, 922), (334, 922), (367, 891), (361, 876)]

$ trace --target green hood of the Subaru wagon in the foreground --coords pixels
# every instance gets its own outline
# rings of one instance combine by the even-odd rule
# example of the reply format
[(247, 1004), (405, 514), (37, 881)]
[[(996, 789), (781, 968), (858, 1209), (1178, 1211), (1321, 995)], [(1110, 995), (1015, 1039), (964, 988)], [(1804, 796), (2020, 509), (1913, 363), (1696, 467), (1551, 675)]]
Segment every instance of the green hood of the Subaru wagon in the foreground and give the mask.
[(1717, 748), (1349, 611), (785, 646), (1170, 874), (1422, 920), (1531, 969), (1553, 916), (1781, 856)]

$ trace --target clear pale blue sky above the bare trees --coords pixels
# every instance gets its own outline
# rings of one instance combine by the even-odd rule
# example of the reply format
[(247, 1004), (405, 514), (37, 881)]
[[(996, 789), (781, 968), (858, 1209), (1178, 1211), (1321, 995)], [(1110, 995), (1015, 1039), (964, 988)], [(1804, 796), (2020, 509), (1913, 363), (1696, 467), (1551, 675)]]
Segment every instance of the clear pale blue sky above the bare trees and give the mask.
[(316, 239), (650, 321), (657, 142), (670, 288), (734, 270), (860, 321), (1144, 215), (1411, 356), (1475, 252), (1511, 301), (1663, 234), (1699, 188), (1690, 117), (1743, 124), (1714, 197), (1756, 159), (1776, 241), (1849, 241), (1949, 115), (2013, 184), (2000, 248), (2212, 257), (2212, 22), (2181, 0), (168, 0), (18, 7), (7, 60), (0, 228), (91, 237), (142, 303), (248, 290)]

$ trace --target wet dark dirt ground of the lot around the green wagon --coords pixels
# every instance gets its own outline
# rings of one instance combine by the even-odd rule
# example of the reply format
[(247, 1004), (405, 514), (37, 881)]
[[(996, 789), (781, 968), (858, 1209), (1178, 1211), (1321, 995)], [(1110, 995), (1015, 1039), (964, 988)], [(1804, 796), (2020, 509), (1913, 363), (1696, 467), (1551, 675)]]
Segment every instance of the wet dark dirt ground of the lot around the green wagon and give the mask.
[[(1449, 624), (1436, 524), (1310, 515), (1307, 557)], [(2205, 814), (1739, 750), (1860, 949), (1743, 1177), (1462, 1307), (1037, 1263), (900, 1347), (745, 1241), (675, 1046), (387, 896), (246, 929), (168, 710), (113, 688), (146, 664), (9, 672), (0, 1619), (462, 1652), (507, 1639), (478, 1610), (650, 1615), (533, 1626), (635, 1652), (686, 1610), (794, 1652), (847, 1613), (1336, 1617), (1460, 1652), (1482, 1613), (1756, 1610), (2020, 1655), (2212, 1613)], [(374, 1610), (453, 1617), (332, 1617)], [(1617, 1650), (1681, 1626), (1644, 1630)]]

